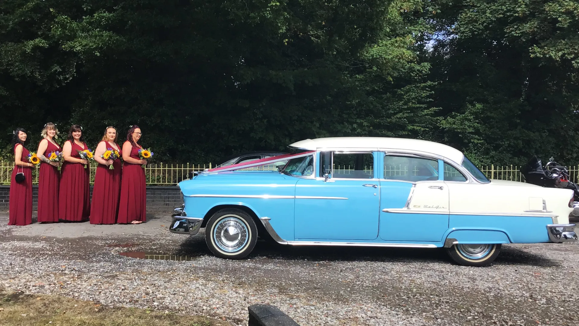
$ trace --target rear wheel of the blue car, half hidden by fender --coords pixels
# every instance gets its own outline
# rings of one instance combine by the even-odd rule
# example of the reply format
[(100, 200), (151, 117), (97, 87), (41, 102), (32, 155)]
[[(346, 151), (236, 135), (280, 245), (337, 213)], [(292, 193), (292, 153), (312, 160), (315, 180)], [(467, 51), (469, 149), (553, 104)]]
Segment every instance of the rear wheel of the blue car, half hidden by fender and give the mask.
[(463, 266), (489, 266), (501, 251), (501, 244), (455, 244), (446, 248), (452, 260)]

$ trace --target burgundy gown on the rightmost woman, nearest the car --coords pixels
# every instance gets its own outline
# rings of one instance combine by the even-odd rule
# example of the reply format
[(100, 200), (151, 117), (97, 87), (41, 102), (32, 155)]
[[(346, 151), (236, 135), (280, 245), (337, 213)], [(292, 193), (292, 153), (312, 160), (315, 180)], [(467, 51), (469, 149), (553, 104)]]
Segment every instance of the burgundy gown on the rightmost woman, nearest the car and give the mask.
[[(131, 157), (139, 158), (139, 148), (131, 148)], [(146, 183), (145, 169), (141, 164), (124, 162), (120, 186), (119, 217), (117, 223), (131, 223), (134, 220), (146, 221)]]

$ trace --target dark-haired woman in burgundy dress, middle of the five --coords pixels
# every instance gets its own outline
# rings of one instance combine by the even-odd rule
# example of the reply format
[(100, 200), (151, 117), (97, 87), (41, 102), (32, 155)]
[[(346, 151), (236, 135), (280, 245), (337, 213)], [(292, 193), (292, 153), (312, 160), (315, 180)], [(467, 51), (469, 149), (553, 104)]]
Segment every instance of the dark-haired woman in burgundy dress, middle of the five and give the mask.
[(78, 151), (88, 149), (83, 140), (82, 128), (72, 125), (68, 140), (63, 145), (64, 164), (58, 191), (58, 218), (65, 221), (86, 221), (90, 215), (89, 171), (87, 160)]

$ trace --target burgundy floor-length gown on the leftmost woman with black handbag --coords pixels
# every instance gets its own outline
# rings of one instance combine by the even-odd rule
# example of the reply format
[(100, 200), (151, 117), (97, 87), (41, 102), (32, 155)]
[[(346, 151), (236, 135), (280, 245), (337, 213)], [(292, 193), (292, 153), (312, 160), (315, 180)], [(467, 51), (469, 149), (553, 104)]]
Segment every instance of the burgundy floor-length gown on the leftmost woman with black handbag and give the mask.
[[(16, 146), (14, 145), (14, 154)], [(28, 162), (28, 151), (22, 147), (23, 162)], [(24, 181), (16, 182), (16, 173), (24, 172)], [(31, 166), (14, 166), (12, 179), (10, 180), (10, 197), (8, 199), (10, 209), (8, 225), (28, 225), (32, 223), (32, 167)]]

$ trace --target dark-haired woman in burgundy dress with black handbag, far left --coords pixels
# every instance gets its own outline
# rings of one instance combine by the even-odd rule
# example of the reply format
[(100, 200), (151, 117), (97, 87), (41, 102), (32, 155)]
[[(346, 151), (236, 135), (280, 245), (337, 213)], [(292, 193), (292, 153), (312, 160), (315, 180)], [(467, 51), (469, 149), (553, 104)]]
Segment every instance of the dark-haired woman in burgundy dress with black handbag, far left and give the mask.
[[(32, 163), (28, 162), (28, 151), (24, 147), (26, 131), (14, 131), (14, 170), (10, 180), (8, 225), (28, 225), (32, 223)], [(24, 180), (16, 181), (17, 173), (24, 173)]]

